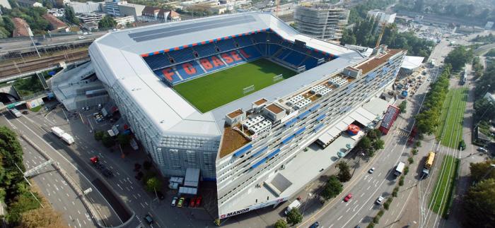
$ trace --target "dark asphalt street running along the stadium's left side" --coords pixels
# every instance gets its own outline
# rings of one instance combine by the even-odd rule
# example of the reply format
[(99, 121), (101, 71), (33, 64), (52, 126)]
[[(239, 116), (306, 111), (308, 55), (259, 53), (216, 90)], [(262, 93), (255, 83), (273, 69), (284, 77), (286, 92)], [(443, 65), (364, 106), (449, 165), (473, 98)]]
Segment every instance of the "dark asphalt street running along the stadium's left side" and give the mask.
[[(147, 160), (146, 155), (139, 153), (130, 153), (122, 158), (120, 152), (110, 152), (108, 148), (103, 147), (100, 142), (93, 138), (91, 129), (108, 130), (111, 124), (108, 121), (97, 123), (93, 119), (93, 111), (83, 112), (81, 114), (69, 114), (66, 111), (57, 108), (50, 113), (28, 114), (21, 118), (30, 119), (25, 124), (30, 128), (37, 128), (35, 131), (38, 136), (45, 138), (50, 144), (59, 143), (58, 138), (52, 133), (42, 132), (41, 126), (50, 128), (59, 126), (64, 131), (74, 136), (76, 143), (70, 146), (72, 150), (61, 150), (64, 157), (74, 160), (81, 172), (90, 173), (96, 170), (89, 165), (89, 158), (95, 155), (100, 157), (103, 162), (114, 174), (112, 179), (105, 179), (99, 173), (94, 177), (99, 177), (112, 188), (115, 196), (120, 198), (132, 211), (136, 213), (134, 223), (138, 225), (142, 218), (149, 214), (155, 220), (153, 227), (204, 227), (212, 224), (213, 218), (203, 208), (173, 208), (170, 202), (174, 196), (174, 191), (168, 191), (163, 188), (165, 200), (156, 201), (154, 193), (144, 191), (143, 185), (137, 181), (133, 172), (134, 164)], [(67, 117), (66, 117), (67, 116)], [(69, 119), (69, 123), (66, 121)], [(65, 146), (66, 147), (66, 146)], [(93, 170), (88, 170), (93, 169)], [(93, 181), (93, 179), (91, 179)], [(206, 202), (205, 202), (206, 203)]]

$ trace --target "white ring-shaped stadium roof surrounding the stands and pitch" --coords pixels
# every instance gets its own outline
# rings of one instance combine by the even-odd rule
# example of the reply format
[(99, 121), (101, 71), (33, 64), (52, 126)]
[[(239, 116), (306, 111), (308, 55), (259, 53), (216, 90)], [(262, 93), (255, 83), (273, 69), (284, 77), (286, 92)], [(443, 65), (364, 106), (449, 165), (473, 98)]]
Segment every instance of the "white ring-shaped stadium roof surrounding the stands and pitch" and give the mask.
[[(307, 47), (327, 52), (337, 59), (282, 80), (257, 92), (201, 113), (158, 78), (142, 56), (158, 54), (198, 42), (258, 30), (274, 30), (286, 40), (301, 40)], [(98, 78), (109, 87), (118, 83), (136, 105), (143, 109), (161, 131), (221, 136), (225, 115), (236, 109), (248, 109), (252, 102), (267, 98), (276, 100), (362, 61), (363, 56), (351, 49), (301, 35), (269, 13), (238, 13), (187, 20), (177, 23), (109, 32), (89, 48)]]

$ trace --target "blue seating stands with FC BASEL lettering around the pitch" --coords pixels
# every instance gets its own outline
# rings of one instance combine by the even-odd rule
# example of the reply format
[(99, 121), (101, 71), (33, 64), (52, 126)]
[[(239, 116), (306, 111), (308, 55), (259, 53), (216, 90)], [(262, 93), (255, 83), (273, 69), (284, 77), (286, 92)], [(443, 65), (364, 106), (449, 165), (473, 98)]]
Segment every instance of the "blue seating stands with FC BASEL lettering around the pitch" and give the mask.
[(171, 86), (262, 57), (277, 61), (295, 71), (301, 70), (302, 66), (305, 66), (305, 70), (314, 68), (322, 63), (320, 59), (329, 59), (322, 52), (296, 46), (271, 31), (202, 42), (165, 52), (143, 57), (153, 72)]

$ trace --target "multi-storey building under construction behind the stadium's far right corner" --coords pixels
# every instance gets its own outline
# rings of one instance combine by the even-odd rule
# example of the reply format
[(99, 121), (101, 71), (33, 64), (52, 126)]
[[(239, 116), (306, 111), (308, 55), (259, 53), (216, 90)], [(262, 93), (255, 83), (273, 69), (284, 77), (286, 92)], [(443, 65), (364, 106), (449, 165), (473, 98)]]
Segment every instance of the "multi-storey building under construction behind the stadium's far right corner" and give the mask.
[(348, 18), (349, 10), (331, 4), (301, 4), (294, 12), (297, 30), (322, 40), (342, 38)]

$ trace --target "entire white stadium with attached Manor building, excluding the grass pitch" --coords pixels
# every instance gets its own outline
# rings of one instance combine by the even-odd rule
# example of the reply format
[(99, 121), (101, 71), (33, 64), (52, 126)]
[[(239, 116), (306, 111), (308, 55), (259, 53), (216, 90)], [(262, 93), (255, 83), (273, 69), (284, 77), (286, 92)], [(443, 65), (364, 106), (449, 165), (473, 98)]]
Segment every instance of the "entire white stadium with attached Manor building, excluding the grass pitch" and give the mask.
[[(302, 35), (268, 13), (110, 32), (89, 52), (161, 173), (183, 176), (199, 168), (203, 180), (216, 181), (220, 218), (277, 205), (307, 184), (310, 179), (297, 181), (283, 170), (295, 168), (298, 155), (323, 134), (338, 140), (343, 123), (375, 121), (356, 112), (366, 112), (363, 105), (392, 85), (405, 54), (380, 47), (366, 58)], [(298, 74), (207, 112), (173, 89), (260, 58)]]

